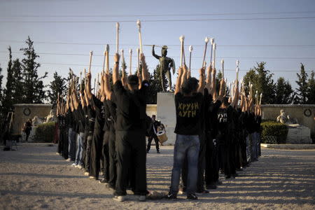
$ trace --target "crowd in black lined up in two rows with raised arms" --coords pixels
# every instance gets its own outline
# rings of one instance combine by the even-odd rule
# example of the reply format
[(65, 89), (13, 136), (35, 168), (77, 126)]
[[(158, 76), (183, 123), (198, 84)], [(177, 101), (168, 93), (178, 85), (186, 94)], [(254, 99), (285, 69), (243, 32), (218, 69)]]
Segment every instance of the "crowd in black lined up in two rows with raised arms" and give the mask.
[[(59, 142), (57, 153), (90, 179), (114, 190), (114, 200), (123, 202), (130, 188), (139, 201), (148, 195), (146, 155), (155, 141), (159, 122), (146, 115), (148, 67), (140, 55), (141, 71), (120, 78), (120, 55), (114, 55), (112, 74), (102, 71), (100, 87), (92, 93), (91, 71), (78, 87), (69, 82), (66, 99), (58, 97)], [(200, 79), (190, 76), (186, 65), (176, 80), (176, 141), (174, 165), (166, 199), (186, 193), (197, 200), (197, 193), (209, 193), (237, 171), (248, 167), (260, 155), (261, 109), (258, 100), (245, 94), (245, 85), (235, 80), (227, 91), (225, 80), (216, 90), (216, 69), (200, 69)], [(83, 87), (84, 86), (84, 87)], [(230, 94), (233, 92), (234, 94)], [(146, 134), (147, 133), (147, 134)], [(146, 145), (146, 135), (149, 136)], [(181, 180), (181, 187), (180, 187)]]

